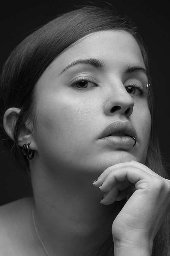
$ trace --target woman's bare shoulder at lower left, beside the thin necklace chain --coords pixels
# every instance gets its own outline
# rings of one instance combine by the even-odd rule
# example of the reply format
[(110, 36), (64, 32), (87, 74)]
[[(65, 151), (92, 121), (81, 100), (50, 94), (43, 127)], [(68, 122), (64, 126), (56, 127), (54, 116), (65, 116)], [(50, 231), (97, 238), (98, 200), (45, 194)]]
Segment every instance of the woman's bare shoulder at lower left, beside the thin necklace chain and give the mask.
[(27, 239), (32, 203), (33, 199), (26, 197), (0, 207), (0, 256), (17, 255), (23, 239)]

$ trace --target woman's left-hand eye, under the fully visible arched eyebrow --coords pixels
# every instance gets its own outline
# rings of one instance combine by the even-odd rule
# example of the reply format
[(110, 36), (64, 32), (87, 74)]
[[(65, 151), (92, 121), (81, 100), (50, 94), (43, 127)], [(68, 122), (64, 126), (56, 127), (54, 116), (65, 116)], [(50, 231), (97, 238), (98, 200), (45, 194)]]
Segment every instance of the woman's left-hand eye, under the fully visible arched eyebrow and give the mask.
[(89, 78), (78, 78), (76, 79), (72, 84), (72, 87), (75, 87), (77, 89), (83, 90), (83, 89), (90, 89), (91, 87), (98, 86), (94, 81), (92, 81)]

